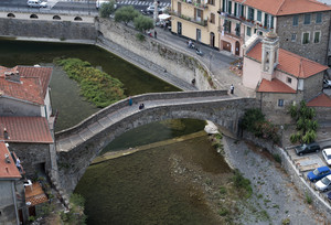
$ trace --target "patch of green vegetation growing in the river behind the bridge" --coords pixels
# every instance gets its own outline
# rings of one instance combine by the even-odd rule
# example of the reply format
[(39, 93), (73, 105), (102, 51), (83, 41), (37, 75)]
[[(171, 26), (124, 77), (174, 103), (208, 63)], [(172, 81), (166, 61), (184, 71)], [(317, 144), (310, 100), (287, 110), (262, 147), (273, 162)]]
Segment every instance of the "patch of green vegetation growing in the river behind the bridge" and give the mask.
[(70, 78), (75, 79), (81, 86), (81, 95), (97, 107), (106, 107), (126, 96), (122, 83), (109, 74), (94, 68), (88, 62), (79, 58), (56, 60)]

